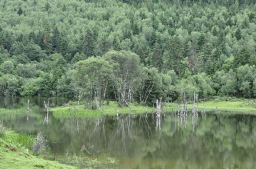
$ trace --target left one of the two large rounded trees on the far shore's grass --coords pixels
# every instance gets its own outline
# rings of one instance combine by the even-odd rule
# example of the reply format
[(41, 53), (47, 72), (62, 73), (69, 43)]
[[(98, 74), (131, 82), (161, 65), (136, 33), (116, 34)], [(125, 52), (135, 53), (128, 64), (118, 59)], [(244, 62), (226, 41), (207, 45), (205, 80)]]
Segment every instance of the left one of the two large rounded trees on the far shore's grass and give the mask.
[(88, 102), (97, 100), (101, 107), (109, 79), (112, 78), (112, 69), (109, 62), (101, 57), (89, 57), (87, 60), (77, 62), (73, 79), (77, 95), (86, 96)]

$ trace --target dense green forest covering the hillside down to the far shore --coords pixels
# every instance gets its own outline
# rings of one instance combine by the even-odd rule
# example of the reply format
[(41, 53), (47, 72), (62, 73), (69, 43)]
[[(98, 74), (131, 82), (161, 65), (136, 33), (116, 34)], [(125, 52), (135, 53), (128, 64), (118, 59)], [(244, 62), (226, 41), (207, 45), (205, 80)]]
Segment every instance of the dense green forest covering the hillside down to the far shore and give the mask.
[(0, 1), (0, 95), (256, 98), (255, 1)]

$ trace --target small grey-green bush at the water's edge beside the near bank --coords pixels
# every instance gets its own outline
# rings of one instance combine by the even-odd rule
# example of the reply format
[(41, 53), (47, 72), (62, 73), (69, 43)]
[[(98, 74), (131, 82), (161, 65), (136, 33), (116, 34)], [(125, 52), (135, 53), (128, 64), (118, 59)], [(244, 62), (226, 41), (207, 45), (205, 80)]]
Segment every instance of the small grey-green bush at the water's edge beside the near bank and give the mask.
[(47, 153), (47, 140), (44, 138), (43, 133), (39, 132), (36, 136), (36, 140), (32, 145), (32, 152), (36, 155)]

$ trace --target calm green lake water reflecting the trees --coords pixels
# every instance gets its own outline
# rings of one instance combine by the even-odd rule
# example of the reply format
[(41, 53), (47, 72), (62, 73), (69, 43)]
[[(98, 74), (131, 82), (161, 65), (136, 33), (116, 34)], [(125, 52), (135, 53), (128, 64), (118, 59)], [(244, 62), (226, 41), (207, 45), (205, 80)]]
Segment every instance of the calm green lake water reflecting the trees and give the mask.
[[(26, 99), (0, 99), (6, 108), (26, 107)], [(50, 105), (63, 105), (52, 99)], [(33, 106), (32, 106), (33, 105)], [(112, 157), (118, 168), (255, 168), (256, 116), (207, 113), (193, 119), (175, 113), (57, 119), (44, 125), (43, 99), (31, 100), (31, 115), (0, 115), (8, 128), (43, 132), (54, 154)], [(40, 108), (41, 107), (41, 108)]]

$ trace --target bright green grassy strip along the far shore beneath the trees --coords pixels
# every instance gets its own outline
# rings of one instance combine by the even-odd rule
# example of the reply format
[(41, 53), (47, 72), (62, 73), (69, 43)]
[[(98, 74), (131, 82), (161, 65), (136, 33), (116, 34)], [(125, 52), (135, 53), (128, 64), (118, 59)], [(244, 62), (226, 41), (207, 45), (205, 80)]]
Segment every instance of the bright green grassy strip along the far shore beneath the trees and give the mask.
[[(171, 112), (175, 111), (178, 108), (178, 105), (175, 103), (163, 103), (163, 111)], [(256, 105), (254, 106), (254, 100), (240, 100), (240, 101), (216, 101), (210, 100), (207, 102), (200, 102), (199, 111), (204, 107), (205, 111), (230, 111), (236, 113), (245, 113), (245, 114), (256, 114)], [(192, 108), (192, 103), (188, 104), (188, 108)], [(86, 116), (101, 116), (101, 115), (117, 115), (120, 113), (151, 113), (156, 112), (155, 108), (147, 107), (143, 105), (131, 104), (129, 107), (118, 107), (117, 103), (110, 102), (109, 105), (104, 105), (102, 109), (94, 110), (88, 109), (84, 105), (71, 107), (70, 109), (65, 107), (56, 107), (51, 109), (53, 116), (55, 117), (86, 117)]]

